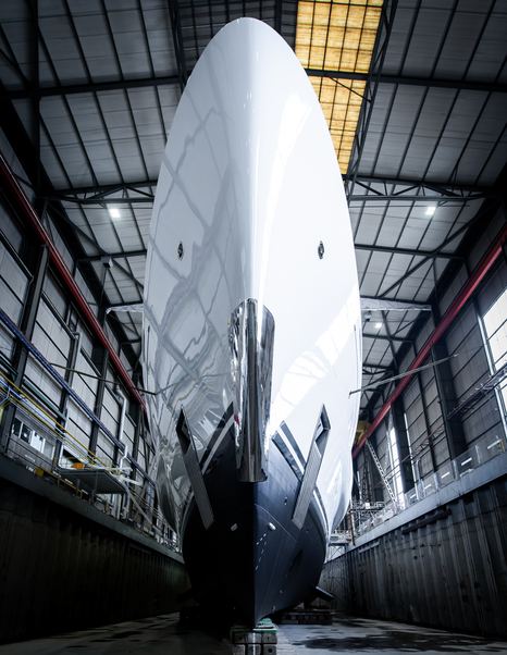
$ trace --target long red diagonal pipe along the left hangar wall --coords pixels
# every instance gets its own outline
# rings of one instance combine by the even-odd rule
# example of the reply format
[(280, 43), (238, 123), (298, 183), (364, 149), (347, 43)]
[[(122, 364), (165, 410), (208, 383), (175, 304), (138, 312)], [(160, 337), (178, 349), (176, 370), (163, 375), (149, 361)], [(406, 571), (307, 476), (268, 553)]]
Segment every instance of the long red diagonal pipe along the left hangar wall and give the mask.
[(65, 284), (69, 292), (71, 293), (71, 296), (73, 297), (73, 299), (74, 299), (78, 310), (81, 311), (82, 316), (84, 317), (86, 323), (91, 329), (91, 332), (95, 334), (95, 336), (99, 339), (100, 344), (108, 351), (109, 358), (110, 358), (113, 367), (116, 369), (116, 373), (123, 380), (123, 382), (125, 383), (125, 386), (127, 387), (127, 390), (129, 391), (132, 396), (139, 403), (139, 405), (144, 409), (146, 409), (145, 400), (144, 400), (143, 396), (139, 394), (136, 386), (134, 385), (132, 378), (128, 375), (128, 373), (125, 370), (125, 367), (122, 363), (122, 360), (114, 351), (104, 331), (102, 330), (102, 326), (100, 325), (99, 321), (97, 320), (97, 317), (91, 311), (91, 309), (90, 309), (88, 302), (86, 301), (85, 297), (83, 296), (79, 287), (74, 282), (74, 277), (72, 276), (71, 272), (66, 268), (66, 264), (63, 261), (60, 252), (53, 246), (46, 230), (42, 227), (42, 224), (40, 223), (38, 215), (36, 214), (34, 208), (29, 203), (28, 198), (25, 196), (25, 193), (21, 188), (20, 184), (17, 183), (17, 180), (12, 174), (11, 169), (9, 168), (9, 165), (7, 164), (5, 160), (3, 159), (3, 157), (1, 155), (0, 155), (0, 175), (1, 175), (1, 181), (2, 181), (2, 187), (5, 188), (7, 190), (11, 191), (14, 195), (14, 198), (17, 201), (21, 209), (23, 210), (23, 215), (28, 221), (29, 226), (37, 234), (39, 240), (48, 247), (51, 264), (53, 265), (54, 270), (58, 271), (58, 273), (60, 274), (61, 281)]

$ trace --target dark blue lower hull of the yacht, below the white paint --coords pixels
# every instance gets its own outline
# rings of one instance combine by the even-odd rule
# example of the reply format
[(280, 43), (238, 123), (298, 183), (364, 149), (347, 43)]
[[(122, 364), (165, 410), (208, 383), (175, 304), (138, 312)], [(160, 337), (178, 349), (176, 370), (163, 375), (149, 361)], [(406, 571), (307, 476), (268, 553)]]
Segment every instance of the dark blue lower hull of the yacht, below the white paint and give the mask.
[(314, 495), (302, 528), (293, 521), (301, 478), (279, 436), (268, 479), (238, 481), (232, 431), (225, 435), (203, 475), (213, 523), (205, 529), (194, 499), (184, 514), (183, 555), (201, 605), (255, 626), (312, 596), (326, 535)]

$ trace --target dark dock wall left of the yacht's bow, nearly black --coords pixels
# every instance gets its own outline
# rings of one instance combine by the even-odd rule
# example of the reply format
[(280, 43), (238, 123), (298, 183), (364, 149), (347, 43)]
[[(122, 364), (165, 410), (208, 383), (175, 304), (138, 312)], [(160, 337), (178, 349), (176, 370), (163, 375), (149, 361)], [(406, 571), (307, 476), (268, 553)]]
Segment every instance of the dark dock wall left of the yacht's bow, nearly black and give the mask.
[(174, 558), (0, 479), (0, 642), (174, 610)]

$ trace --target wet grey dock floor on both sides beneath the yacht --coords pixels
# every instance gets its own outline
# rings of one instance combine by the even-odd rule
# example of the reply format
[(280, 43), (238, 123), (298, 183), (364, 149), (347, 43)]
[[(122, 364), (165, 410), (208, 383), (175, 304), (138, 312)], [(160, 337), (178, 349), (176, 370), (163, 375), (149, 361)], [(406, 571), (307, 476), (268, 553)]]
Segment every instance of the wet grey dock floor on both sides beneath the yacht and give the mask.
[[(218, 635), (181, 626), (176, 614), (0, 645), (0, 655), (231, 655)], [(331, 626), (281, 626), (277, 655), (505, 653), (507, 641), (407, 623), (337, 616)]]

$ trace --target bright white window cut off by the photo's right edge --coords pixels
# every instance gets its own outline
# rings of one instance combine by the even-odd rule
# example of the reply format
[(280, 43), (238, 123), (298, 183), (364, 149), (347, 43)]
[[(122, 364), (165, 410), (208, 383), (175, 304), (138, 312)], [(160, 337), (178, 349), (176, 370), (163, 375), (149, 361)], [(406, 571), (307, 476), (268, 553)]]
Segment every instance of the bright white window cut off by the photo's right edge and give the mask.
[[(497, 373), (507, 366), (507, 289), (493, 302), (482, 317), (484, 337), (487, 345), (487, 355), (492, 373)], [(500, 410), (506, 413), (507, 408), (507, 379), (496, 387)]]

